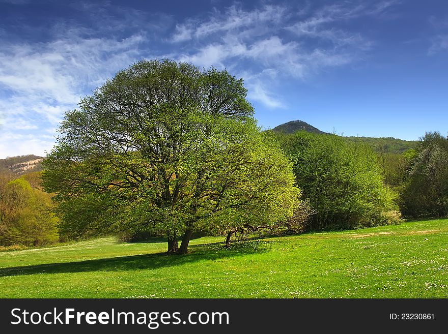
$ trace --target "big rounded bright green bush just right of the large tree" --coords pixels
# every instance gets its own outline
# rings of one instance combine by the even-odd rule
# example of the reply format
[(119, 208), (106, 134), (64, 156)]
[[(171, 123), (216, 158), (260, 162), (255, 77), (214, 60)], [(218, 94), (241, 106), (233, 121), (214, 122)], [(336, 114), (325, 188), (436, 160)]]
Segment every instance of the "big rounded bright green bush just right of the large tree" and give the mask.
[(335, 135), (284, 136), (297, 185), (315, 211), (311, 229), (347, 229), (398, 222), (394, 193), (383, 184), (377, 157)]

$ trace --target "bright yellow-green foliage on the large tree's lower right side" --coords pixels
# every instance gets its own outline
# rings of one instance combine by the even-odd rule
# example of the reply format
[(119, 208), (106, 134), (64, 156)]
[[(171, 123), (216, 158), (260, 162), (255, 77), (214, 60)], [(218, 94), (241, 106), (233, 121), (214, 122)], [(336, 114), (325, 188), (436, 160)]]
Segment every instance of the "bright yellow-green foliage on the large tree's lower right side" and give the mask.
[(219, 170), (213, 183), (234, 189), (223, 193), (221, 209), (210, 219), (214, 233), (272, 232), (299, 209), (292, 163), (270, 136), (255, 128), (226, 153)]

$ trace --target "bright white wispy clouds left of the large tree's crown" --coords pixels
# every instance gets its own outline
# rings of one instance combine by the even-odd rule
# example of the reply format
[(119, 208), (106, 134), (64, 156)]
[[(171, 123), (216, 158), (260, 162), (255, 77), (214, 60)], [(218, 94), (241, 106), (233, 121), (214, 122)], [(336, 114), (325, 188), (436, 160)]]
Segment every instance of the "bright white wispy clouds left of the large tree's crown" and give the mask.
[[(0, 45), (1, 156), (44, 154), (66, 110), (142, 58), (145, 32), (124, 38), (100, 33), (57, 22), (47, 42), (6, 40)], [(42, 140), (42, 132), (50, 138)]]

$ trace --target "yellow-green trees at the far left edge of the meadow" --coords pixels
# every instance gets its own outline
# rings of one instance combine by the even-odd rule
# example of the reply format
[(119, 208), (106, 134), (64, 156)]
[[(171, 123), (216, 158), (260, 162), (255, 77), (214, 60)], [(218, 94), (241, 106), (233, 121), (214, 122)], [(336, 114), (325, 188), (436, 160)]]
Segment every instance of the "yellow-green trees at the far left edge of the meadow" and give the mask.
[(58, 241), (51, 195), (32, 189), (22, 176), (0, 189), (0, 244), (43, 246)]

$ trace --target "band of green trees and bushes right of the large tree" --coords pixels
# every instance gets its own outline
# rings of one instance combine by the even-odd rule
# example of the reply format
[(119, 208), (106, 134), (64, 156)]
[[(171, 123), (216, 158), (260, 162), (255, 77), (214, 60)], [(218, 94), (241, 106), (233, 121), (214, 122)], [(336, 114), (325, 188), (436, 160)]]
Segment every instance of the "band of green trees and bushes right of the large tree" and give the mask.
[[(397, 222), (400, 215), (448, 215), (448, 138), (439, 132), (418, 141), (304, 132), (277, 136), (292, 152), (297, 185), (316, 211), (313, 229)], [(299, 148), (291, 151), (291, 142)], [(353, 212), (359, 206), (373, 214), (379, 204), (383, 210), (376, 218)]]

